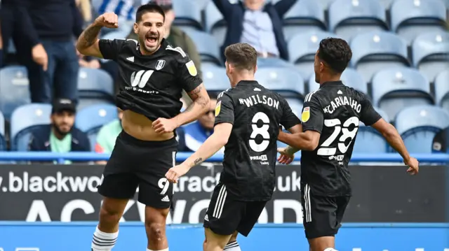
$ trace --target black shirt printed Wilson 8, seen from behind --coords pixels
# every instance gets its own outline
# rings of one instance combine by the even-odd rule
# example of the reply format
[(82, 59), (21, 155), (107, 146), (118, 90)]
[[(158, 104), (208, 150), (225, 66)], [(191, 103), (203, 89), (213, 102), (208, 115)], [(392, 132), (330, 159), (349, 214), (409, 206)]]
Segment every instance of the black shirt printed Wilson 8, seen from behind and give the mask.
[(227, 196), (240, 201), (268, 201), (276, 181), (279, 124), (300, 124), (283, 97), (256, 81), (241, 81), (218, 95), (215, 124), (233, 124), (225, 145), (220, 176)]

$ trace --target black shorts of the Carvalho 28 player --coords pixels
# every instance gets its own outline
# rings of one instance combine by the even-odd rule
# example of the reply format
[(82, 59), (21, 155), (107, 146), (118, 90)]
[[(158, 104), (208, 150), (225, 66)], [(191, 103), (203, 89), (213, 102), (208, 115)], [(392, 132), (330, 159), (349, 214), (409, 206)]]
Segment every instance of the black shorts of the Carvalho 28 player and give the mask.
[(316, 196), (309, 185), (301, 187), (302, 222), (306, 238), (335, 236), (351, 196)]

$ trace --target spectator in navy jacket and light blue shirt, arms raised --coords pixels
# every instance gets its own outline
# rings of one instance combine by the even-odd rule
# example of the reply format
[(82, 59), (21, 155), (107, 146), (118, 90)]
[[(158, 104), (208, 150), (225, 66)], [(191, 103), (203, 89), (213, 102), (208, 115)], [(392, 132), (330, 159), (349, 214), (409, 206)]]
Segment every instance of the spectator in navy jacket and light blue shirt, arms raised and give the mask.
[(252, 45), (259, 57), (280, 57), (288, 60), (287, 43), (283, 36), (283, 15), (297, 0), (280, 0), (276, 4), (265, 0), (213, 0), (227, 22), (227, 34), (222, 51), (233, 43)]

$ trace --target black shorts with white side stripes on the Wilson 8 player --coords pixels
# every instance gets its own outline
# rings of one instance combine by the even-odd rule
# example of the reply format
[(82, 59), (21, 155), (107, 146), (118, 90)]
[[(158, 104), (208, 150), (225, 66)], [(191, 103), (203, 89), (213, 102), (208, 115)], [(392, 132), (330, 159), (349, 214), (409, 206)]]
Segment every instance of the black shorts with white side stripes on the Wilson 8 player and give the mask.
[(227, 194), (226, 186), (219, 183), (206, 210), (203, 227), (215, 234), (227, 236), (239, 231), (248, 236), (257, 223), (267, 201), (238, 201)]

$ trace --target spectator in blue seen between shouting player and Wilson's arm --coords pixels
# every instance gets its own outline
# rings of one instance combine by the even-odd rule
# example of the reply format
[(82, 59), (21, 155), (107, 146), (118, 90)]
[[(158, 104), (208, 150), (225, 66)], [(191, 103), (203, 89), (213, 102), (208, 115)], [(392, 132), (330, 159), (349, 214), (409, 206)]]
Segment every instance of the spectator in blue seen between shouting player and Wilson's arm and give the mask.
[[(209, 93), (210, 108), (209, 110), (199, 117), (198, 120), (187, 124), (184, 127), (185, 133), (185, 146), (187, 150), (195, 152), (206, 141), (206, 139), (213, 134), (213, 126), (215, 123), (215, 106), (217, 105), (217, 96)], [(224, 153), (224, 148), (220, 150)]]

